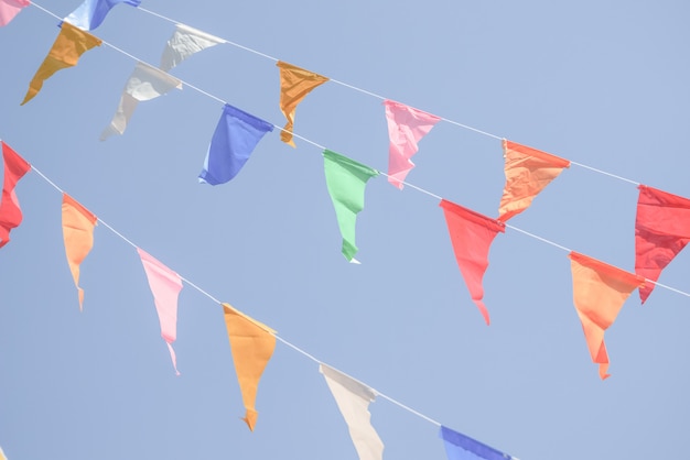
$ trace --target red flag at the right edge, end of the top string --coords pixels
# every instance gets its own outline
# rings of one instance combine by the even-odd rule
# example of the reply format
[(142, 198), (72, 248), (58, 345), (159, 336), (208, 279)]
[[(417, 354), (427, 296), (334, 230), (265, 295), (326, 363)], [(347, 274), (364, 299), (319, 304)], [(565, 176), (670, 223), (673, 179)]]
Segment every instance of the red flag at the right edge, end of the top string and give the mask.
[[(635, 219), (635, 273), (656, 282), (690, 241), (690, 199), (640, 185)], [(643, 304), (654, 283), (639, 288)]]

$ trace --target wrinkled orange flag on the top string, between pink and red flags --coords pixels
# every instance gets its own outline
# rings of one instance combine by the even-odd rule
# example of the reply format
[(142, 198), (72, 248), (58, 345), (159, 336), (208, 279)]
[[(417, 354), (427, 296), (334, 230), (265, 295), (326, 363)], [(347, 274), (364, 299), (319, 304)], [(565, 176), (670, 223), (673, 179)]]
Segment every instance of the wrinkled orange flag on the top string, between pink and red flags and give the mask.
[(568, 160), (504, 139), (506, 186), (498, 208), (498, 219), (506, 222), (529, 208), (532, 199), (558, 177)]

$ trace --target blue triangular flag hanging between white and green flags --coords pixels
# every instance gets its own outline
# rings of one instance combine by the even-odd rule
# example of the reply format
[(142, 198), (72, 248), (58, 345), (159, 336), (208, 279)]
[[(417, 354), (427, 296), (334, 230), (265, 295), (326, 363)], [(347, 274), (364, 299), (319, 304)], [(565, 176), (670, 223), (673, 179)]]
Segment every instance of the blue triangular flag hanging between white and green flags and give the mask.
[(230, 180), (269, 131), (273, 131), (271, 123), (226, 103), (213, 133), (198, 180), (211, 185)]

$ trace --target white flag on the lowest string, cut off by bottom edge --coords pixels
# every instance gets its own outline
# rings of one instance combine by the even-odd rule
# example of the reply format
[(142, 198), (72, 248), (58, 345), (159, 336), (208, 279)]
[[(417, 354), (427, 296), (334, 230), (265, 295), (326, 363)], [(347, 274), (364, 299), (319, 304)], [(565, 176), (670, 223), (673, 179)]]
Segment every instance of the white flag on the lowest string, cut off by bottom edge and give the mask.
[(319, 365), (319, 372), (325, 377), (335, 403), (345, 418), (359, 460), (382, 459), (384, 442), (371, 426), (369, 413), (369, 403), (376, 398), (376, 392), (325, 364)]

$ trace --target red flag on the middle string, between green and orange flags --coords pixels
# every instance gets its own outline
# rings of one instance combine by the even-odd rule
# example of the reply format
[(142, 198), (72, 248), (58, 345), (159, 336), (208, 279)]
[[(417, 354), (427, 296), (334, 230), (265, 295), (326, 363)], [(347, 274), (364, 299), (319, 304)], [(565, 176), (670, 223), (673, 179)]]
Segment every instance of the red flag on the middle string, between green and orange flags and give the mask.
[(489, 324), (488, 310), (482, 300), (484, 287), (482, 278), (488, 267), (488, 250), (498, 232), (504, 233), (506, 226), (460, 205), (441, 200), (455, 260), (465, 280), (472, 299), (479, 308), (486, 325)]

